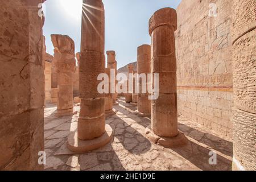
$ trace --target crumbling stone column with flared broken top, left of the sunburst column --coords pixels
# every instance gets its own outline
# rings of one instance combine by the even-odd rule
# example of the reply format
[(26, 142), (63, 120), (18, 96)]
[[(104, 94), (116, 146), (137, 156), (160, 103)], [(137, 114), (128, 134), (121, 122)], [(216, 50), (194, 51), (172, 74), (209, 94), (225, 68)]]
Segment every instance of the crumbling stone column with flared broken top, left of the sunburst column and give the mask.
[(75, 71), (75, 43), (67, 35), (51, 35), (54, 59), (57, 64), (59, 94), (57, 115), (72, 115), (73, 73)]

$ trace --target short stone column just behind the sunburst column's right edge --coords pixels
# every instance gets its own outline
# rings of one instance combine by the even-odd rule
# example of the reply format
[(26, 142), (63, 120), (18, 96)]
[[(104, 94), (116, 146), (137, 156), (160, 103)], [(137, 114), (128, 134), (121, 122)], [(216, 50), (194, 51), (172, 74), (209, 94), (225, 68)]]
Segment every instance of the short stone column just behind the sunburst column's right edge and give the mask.
[(105, 93), (105, 114), (106, 116), (109, 116), (111, 114), (114, 114), (113, 111), (113, 94), (110, 93), (110, 68), (105, 68), (105, 73), (108, 74), (109, 80), (108, 80), (108, 86), (109, 86), (109, 93)]

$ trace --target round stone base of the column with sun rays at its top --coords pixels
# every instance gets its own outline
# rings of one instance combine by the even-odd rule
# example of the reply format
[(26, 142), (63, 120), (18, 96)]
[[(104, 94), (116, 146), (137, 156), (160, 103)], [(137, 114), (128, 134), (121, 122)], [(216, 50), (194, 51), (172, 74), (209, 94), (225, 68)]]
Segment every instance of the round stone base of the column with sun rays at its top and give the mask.
[(113, 129), (110, 125), (105, 125), (105, 133), (101, 137), (92, 140), (80, 140), (77, 137), (77, 133), (71, 133), (68, 136), (67, 147), (77, 153), (92, 151), (109, 143), (113, 138), (113, 134)]

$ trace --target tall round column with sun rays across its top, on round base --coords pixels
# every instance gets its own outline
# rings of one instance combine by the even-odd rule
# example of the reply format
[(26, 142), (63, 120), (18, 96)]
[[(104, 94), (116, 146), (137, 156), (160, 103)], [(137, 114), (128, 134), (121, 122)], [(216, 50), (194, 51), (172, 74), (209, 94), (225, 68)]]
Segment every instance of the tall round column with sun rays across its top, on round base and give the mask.
[[(78, 133), (68, 137), (69, 150), (85, 152), (104, 146), (113, 137), (113, 130), (105, 125), (105, 97), (98, 92), (105, 73), (105, 12), (102, 0), (84, 0), (80, 52), (79, 94), (81, 109)], [(95, 8), (97, 7), (97, 8)]]

